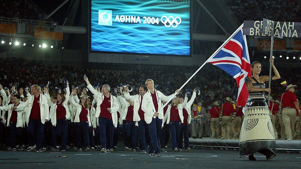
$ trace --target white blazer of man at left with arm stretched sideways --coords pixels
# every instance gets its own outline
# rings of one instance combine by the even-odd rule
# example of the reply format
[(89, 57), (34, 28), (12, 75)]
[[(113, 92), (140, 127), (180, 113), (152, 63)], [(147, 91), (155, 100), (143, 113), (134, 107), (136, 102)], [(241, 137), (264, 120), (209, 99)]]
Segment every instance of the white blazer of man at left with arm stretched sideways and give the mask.
[[(49, 120), (49, 106), (48, 106), (48, 102), (47, 102), (47, 98), (46, 96), (40, 94), (40, 112), (41, 112), (41, 122), (44, 124), (45, 123), (45, 120)], [(27, 101), (22, 103), (22, 104), (19, 104), (19, 106), (17, 106), (17, 109), (19, 108), (24, 108), (24, 107), (27, 107), (27, 110), (26, 111), (26, 123), (28, 124), (28, 121), (29, 121), (29, 116), (31, 114), (31, 108), (32, 108), (32, 104), (33, 104), (33, 101), (34, 101), (34, 98), (35, 98), (35, 95), (32, 95), (30, 97), (28, 97)]]

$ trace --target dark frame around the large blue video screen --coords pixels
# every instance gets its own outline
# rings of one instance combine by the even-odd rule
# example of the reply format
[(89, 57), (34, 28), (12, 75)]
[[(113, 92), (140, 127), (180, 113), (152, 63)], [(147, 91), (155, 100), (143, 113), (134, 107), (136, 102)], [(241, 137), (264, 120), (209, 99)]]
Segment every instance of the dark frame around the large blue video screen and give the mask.
[(192, 57), (192, 0), (189, 1), (189, 36), (190, 36), (190, 54), (189, 55), (176, 55), (176, 54), (149, 54), (149, 53), (132, 53), (132, 52), (108, 52), (108, 51), (95, 51), (91, 49), (91, 20), (92, 20), (92, 0), (89, 0), (89, 53), (101, 53), (101, 54), (128, 54), (128, 55), (143, 55), (143, 56), (176, 56), (176, 57)]

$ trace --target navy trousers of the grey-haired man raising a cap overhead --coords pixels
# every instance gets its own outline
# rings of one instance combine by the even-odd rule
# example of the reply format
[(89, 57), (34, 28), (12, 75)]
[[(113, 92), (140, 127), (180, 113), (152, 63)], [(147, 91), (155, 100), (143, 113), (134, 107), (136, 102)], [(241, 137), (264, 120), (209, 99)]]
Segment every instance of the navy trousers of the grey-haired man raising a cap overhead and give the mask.
[[(112, 119), (107, 119), (104, 117), (99, 117), (99, 132), (100, 132), (100, 142), (103, 148), (110, 149), (113, 146), (113, 135), (114, 135), (114, 125)], [(107, 138), (109, 137), (109, 138)], [(110, 141), (110, 143), (107, 143)]]

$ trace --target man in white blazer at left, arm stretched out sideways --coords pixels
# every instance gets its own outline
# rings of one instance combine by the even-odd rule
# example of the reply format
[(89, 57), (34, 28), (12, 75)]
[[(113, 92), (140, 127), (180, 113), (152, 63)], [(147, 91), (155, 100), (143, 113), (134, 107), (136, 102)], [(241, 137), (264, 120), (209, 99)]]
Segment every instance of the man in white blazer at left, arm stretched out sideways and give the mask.
[(49, 119), (49, 105), (46, 96), (39, 93), (38, 85), (31, 86), (32, 96), (28, 97), (25, 103), (12, 107), (12, 110), (27, 107), (26, 123), (28, 124), (29, 147), (27, 151), (37, 149), (42, 152), (41, 146), (43, 142), (44, 124)]

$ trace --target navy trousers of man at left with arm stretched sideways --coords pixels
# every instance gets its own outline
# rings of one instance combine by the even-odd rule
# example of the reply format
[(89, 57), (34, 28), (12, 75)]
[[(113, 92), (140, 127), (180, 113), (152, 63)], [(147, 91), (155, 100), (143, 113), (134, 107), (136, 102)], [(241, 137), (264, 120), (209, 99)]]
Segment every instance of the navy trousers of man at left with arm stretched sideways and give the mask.
[(29, 119), (28, 122), (28, 134), (29, 134), (29, 145), (36, 145), (36, 149), (39, 150), (42, 147), (43, 135), (44, 135), (44, 124), (41, 119), (34, 120)]

